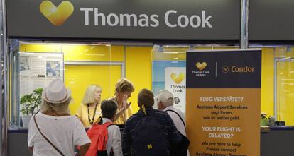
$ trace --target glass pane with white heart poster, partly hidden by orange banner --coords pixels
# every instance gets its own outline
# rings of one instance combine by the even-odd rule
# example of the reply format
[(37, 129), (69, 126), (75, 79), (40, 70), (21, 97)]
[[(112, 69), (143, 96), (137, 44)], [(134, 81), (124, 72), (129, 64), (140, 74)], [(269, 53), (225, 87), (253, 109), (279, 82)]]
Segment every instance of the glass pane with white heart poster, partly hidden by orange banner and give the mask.
[[(152, 60), (152, 90), (169, 90), (175, 97), (174, 107), (185, 114), (186, 52), (193, 49), (235, 49), (222, 45), (155, 45)], [(157, 108), (154, 105), (154, 108)]]

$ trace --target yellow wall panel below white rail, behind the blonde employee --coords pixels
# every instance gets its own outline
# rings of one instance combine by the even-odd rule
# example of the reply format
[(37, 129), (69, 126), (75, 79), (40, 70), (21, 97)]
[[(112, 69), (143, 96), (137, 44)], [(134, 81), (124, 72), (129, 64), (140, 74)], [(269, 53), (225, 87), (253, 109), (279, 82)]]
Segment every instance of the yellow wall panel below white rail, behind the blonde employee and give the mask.
[(70, 113), (75, 114), (89, 85), (102, 87), (102, 100), (113, 97), (114, 85), (119, 78), (121, 66), (65, 66), (65, 85), (72, 90), (74, 99)]

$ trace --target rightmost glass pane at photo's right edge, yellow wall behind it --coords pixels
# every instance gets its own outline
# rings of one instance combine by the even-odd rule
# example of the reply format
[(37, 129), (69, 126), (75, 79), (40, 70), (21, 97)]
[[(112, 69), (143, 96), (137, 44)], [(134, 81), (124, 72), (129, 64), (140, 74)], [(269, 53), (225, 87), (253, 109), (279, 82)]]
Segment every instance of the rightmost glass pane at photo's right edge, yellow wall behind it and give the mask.
[[(294, 57), (292, 47), (275, 49), (275, 114), (278, 121), (294, 125)], [(281, 123), (283, 125), (283, 122)]]

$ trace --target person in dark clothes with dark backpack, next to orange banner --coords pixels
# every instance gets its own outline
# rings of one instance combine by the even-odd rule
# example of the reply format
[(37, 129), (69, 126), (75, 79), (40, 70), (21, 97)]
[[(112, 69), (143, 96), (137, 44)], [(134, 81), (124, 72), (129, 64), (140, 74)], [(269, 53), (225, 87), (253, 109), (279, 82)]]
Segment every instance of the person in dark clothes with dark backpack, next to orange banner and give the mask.
[(153, 109), (154, 99), (150, 90), (138, 93), (140, 110), (125, 124), (123, 134), (124, 156), (170, 156), (170, 143), (178, 144), (180, 133), (166, 112)]

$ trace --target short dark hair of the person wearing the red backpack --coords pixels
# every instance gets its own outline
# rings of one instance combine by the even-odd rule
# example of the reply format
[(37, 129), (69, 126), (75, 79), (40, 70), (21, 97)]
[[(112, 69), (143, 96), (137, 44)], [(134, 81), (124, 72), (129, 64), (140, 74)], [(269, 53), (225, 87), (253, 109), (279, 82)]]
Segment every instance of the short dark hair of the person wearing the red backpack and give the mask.
[(117, 110), (117, 103), (114, 100), (103, 100), (101, 102), (102, 117), (111, 119)]

